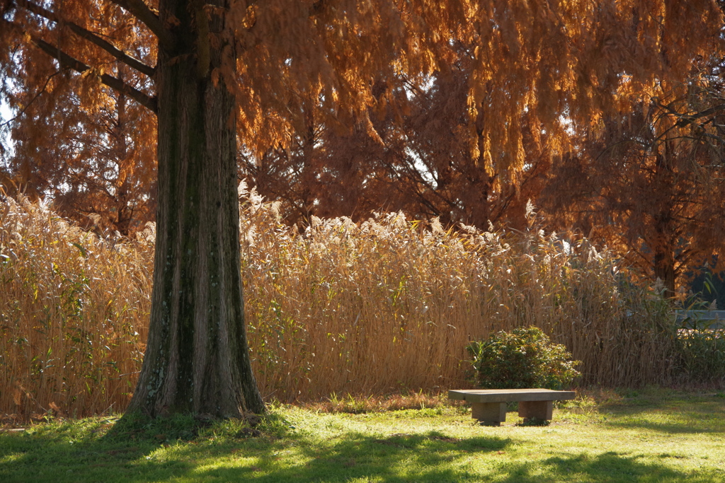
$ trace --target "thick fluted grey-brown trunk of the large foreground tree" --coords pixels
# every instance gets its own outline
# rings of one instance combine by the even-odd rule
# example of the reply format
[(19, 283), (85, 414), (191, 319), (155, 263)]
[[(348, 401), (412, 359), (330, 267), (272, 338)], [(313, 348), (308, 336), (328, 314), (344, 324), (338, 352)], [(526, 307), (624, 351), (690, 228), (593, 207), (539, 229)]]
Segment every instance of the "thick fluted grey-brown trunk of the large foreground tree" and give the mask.
[[(241, 295), (234, 101), (223, 81), (210, 79), (224, 46), (199, 46), (209, 35), (187, 1), (162, 0), (159, 12), (162, 20), (173, 14), (181, 24), (177, 49), (159, 46), (154, 288), (144, 365), (129, 411), (261, 413)], [(212, 18), (211, 31), (220, 23)]]

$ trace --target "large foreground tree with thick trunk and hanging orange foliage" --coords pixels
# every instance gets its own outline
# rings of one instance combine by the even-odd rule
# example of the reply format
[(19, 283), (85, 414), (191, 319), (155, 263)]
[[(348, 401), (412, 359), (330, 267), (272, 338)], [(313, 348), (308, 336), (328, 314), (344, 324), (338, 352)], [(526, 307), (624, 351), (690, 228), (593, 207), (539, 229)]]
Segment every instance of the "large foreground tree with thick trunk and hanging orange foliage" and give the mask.
[[(1, 0), (0, 59), (32, 75), (31, 51), (157, 115), (158, 206), (149, 340), (130, 410), (242, 416), (262, 412), (244, 329), (236, 135), (250, 152), (284, 146), (300, 99), (325, 122), (374, 130), (373, 80), (422, 87), (473, 48), (468, 85), (473, 156), (522, 169), (522, 113), (548, 133), (626, 109), (720, 41), (712, 0)], [(124, 33), (94, 25), (128, 20)], [(125, 51), (155, 37), (156, 64)], [(144, 72), (134, 88), (109, 62)], [(402, 74), (402, 75), (401, 75)], [(22, 84), (21, 84), (22, 85)], [(42, 90), (42, 85), (36, 85)], [(15, 88), (12, 79), (5, 89)], [(391, 85), (390, 92), (402, 88)], [(90, 90), (92, 91), (92, 90)], [(82, 92), (79, 95), (83, 95)], [(394, 99), (390, 99), (394, 101)]]

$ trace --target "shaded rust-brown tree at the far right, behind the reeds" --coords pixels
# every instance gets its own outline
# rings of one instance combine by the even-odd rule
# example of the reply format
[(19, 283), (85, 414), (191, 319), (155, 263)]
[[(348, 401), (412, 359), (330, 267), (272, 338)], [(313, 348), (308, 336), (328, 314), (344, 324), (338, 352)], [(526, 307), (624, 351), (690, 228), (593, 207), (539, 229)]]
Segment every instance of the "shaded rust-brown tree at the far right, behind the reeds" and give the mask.
[(581, 130), (539, 200), (552, 224), (621, 248), (668, 298), (705, 264), (725, 269), (720, 64)]

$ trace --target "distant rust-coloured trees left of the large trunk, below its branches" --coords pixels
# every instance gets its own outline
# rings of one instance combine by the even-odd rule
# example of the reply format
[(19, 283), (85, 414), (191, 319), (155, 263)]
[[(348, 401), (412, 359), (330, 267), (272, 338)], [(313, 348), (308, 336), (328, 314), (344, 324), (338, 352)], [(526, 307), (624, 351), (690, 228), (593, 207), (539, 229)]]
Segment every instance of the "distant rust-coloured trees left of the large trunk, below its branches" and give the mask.
[(81, 104), (76, 91), (83, 79), (57, 70), (42, 51), (36, 56), (33, 70), (50, 82), (38, 95), (33, 89), (11, 93), (9, 105), (22, 114), (12, 122), (5, 190), (32, 201), (45, 198), (60, 216), (107, 235), (143, 230), (155, 211), (154, 114), (104, 85), (94, 104)]

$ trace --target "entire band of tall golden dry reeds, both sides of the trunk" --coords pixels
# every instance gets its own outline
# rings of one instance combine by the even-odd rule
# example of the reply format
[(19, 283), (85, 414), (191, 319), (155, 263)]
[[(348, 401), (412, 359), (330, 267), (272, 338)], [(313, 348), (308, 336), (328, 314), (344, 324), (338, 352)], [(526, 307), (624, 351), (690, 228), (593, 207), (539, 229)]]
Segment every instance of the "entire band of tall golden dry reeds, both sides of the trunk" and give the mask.
[[(299, 232), (255, 193), (242, 201), (249, 344), (267, 398), (470, 387), (468, 342), (529, 325), (582, 361), (582, 384), (676, 375), (663, 304), (586, 240), (444, 231), (400, 213), (313, 217)], [(114, 243), (2, 202), (0, 413), (123, 411), (146, 340), (149, 240)]]

